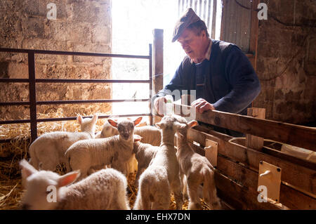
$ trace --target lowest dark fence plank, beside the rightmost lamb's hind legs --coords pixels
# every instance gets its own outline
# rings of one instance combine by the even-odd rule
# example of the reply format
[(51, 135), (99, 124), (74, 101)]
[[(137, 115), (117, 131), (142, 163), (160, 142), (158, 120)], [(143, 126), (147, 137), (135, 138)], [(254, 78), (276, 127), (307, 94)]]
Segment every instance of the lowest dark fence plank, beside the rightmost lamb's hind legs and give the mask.
[[(234, 206), (235, 209), (269, 209), (279, 210), (279, 206), (270, 202), (258, 202), (258, 193), (249, 190), (247, 187), (237, 184), (235, 181), (215, 171), (215, 184), (221, 192), (218, 196), (225, 195), (224, 200)], [(235, 202), (232, 204), (232, 202)]]

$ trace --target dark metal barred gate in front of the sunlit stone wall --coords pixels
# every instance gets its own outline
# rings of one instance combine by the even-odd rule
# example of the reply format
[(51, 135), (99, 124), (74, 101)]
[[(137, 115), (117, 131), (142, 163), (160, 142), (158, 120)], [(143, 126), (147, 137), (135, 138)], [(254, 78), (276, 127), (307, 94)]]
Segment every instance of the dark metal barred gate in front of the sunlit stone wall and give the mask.
[[(84, 53), (84, 52), (68, 52), (68, 51), (42, 51), (29, 49), (15, 48), (0, 48), (0, 52), (8, 53), (27, 53), (29, 79), (0, 79), (0, 83), (29, 83), (29, 102), (1, 102), (0, 106), (12, 105), (29, 105), (30, 119), (0, 121), (0, 124), (31, 124), (31, 141), (37, 138), (37, 122), (46, 121), (69, 121), (75, 120), (76, 117), (37, 119), (37, 105), (51, 104), (79, 104), (79, 103), (119, 103), (119, 102), (145, 102), (147, 99), (125, 99), (125, 100), (55, 100), (55, 101), (37, 101), (36, 100), (36, 84), (37, 83), (148, 83), (150, 84), (150, 96), (152, 95), (152, 44), (149, 44), (149, 55), (124, 55), (124, 54), (109, 54), (109, 53)], [(50, 55), (81, 55), (93, 57), (110, 57), (110, 58), (138, 58), (149, 60), (149, 79), (145, 80), (129, 80), (129, 79), (36, 79), (35, 77), (35, 54), (50, 54)], [(150, 104), (149, 114), (121, 114), (118, 117), (134, 117), (134, 116), (149, 116), (150, 124), (152, 124), (152, 106)], [(110, 115), (99, 116), (99, 118), (107, 118)], [(0, 140), (0, 143), (9, 142), (11, 139)]]

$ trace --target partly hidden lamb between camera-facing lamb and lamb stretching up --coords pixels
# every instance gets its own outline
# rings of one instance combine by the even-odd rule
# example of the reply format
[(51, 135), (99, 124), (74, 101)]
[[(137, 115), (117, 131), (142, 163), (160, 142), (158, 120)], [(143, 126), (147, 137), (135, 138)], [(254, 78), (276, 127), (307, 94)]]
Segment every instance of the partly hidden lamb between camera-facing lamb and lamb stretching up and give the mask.
[(152, 158), (160, 149), (158, 146), (153, 146), (147, 143), (135, 142), (133, 147), (133, 153), (135, 153), (135, 157), (138, 162), (137, 173), (135, 179), (135, 186), (138, 187), (138, 179), (140, 178), (140, 174), (147, 169)]

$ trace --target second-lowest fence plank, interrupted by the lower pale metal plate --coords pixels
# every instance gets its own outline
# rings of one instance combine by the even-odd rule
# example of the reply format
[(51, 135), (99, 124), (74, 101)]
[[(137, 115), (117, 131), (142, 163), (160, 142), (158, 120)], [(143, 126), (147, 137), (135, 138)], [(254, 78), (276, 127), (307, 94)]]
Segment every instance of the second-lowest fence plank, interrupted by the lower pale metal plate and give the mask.
[[(217, 169), (232, 180), (237, 180), (236, 182), (244, 187), (249, 187), (253, 191), (257, 190), (258, 173), (255, 171), (220, 156)], [(279, 202), (290, 209), (316, 209), (315, 199), (284, 184), (280, 187)]]

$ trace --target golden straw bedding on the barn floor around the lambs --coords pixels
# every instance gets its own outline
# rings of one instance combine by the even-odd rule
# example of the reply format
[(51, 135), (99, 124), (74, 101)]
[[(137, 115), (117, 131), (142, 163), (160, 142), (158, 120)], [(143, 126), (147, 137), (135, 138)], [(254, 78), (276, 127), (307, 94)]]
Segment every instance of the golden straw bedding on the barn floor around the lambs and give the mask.
[[(86, 116), (86, 114), (81, 114)], [(52, 110), (47, 114), (39, 114), (40, 118), (63, 117), (62, 110)], [(27, 119), (27, 118), (25, 118)], [(102, 129), (105, 119), (98, 119), (96, 131)], [(39, 136), (51, 131), (79, 131), (77, 121), (41, 122), (37, 124)], [(21, 159), (29, 159), (28, 148), (30, 145), (29, 124), (11, 124), (0, 126), (0, 139), (14, 138), (11, 143), (0, 143), (0, 210), (20, 209), (22, 196), (22, 183), (18, 163)], [(64, 167), (59, 166), (58, 173), (65, 173)], [(128, 197), (131, 208), (136, 200), (137, 188), (133, 185), (136, 173), (128, 177)], [(185, 200), (183, 209), (187, 209)], [(209, 206), (201, 199), (202, 209), (209, 210)], [(176, 209), (176, 202), (171, 195), (169, 209)]]

